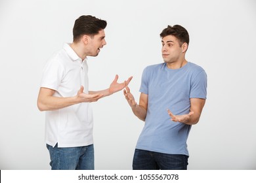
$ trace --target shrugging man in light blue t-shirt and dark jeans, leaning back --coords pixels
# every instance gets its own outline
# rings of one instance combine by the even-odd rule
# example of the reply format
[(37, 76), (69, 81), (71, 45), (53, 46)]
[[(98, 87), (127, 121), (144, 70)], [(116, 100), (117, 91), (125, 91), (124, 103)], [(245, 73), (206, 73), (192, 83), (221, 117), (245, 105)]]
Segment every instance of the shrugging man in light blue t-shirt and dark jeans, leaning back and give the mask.
[(168, 25), (160, 37), (164, 63), (144, 69), (139, 105), (128, 86), (123, 91), (135, 116), (145, 122), (133, 169), (187, 169), (186, 141), (205, 105), (207, 75), (185, 59), (188, 31)]

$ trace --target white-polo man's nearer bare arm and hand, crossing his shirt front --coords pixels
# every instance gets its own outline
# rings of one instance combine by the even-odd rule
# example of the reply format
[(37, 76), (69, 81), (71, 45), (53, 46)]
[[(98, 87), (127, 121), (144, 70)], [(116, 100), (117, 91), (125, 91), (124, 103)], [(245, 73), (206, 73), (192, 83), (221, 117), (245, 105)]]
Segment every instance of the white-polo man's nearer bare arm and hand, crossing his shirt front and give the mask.
[(49, 88), (40, 88), (37, 98), (37, 107), (39, 110), (58, 110), (60, 108), (75, 105), (77, 103), (95, 102), (102, 97), (101, 94), (83, 93), (83, 86), (78, 90), (74, 97), (54, 97), (55, 90)]

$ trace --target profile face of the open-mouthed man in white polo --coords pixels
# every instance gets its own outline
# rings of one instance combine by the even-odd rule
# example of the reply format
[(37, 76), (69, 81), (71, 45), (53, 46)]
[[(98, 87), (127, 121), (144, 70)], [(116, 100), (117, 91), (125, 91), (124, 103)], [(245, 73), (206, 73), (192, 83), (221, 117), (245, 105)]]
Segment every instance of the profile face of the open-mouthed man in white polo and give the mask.
[(94, 37), (88, 38), (87, 56), (98, 56), (100, 48), (106, 45), (104, 29), (100, 30)]

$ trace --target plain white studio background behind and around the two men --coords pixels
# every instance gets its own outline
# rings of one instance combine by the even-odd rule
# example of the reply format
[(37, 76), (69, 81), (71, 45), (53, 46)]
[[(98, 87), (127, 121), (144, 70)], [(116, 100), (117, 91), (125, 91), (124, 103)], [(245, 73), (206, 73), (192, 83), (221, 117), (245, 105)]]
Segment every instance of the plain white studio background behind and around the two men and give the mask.
[[(133, 76), (139, 99), (144, 67), (161, 63), (159, 34), (180, 24), (190, 34), (186, 59), (205, 69), (207, 102), (188, 137), (188, 169), (256, 169), (254, 0), (0, 0), (0, 169), (50, 169), (45, 114), (37, 109), (47, 59), (72, 42), (76, 18), (107, 20), (107, 45), (89, 58), (90, 90), (116, 74)], [(95, 169), (131, 169), (143, 122), (123, 92), (93, 103)]]

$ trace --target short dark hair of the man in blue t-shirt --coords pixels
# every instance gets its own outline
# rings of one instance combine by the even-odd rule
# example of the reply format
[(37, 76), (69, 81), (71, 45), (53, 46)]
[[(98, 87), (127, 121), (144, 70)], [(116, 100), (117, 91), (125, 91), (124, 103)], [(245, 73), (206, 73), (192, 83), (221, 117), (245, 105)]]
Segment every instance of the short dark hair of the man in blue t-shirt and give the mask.
[(160, 37), (163, 38), (167, 35), (173, 35), (174, 37), (176, 37), (180, 42), (180, 46), (184, 42), (189, 44), (188, 31), (186, 31), (186, 29), (181, 25), (168, 25), (167, 28), (163, 29), (163, 31), (160, 33)]

